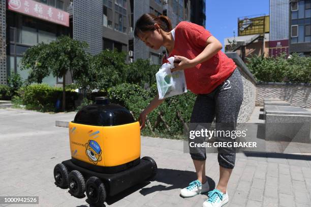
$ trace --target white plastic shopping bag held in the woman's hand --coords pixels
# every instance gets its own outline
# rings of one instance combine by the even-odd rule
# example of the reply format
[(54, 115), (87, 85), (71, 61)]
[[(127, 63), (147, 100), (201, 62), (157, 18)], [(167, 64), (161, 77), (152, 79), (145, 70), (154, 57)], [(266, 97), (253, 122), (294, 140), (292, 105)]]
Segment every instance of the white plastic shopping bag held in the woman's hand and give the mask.
[(171, 73), (171, 68), (174, 68), (174, 59), (174, 57), (169, 57), (170, 63), (164, 63), (158, 73), (155, 74), (159, 99), (187, 92), (183, 70)]

